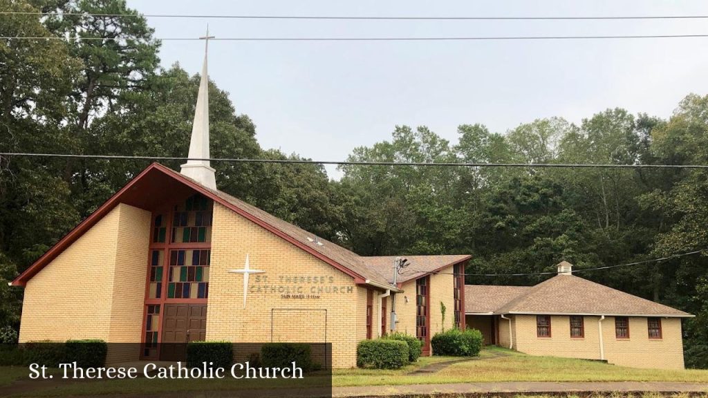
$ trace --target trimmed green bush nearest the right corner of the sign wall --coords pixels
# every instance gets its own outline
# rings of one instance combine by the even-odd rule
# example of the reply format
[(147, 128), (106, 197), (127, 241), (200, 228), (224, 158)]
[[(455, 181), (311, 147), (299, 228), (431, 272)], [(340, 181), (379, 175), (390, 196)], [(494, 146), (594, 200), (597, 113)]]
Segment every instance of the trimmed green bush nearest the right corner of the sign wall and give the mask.
[(364, 340), (360, 341), (356, 348), (356, 364), (360, 368), (398, 369), (409, 363), (406, 341)]

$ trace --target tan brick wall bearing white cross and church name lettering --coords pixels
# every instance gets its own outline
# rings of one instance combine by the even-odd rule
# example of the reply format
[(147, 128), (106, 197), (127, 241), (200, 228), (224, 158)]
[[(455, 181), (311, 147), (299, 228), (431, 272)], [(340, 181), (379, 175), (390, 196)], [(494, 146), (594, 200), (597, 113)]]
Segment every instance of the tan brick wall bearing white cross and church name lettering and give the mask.
[[(246, 254), (251, 268), (265, 273), (251, 275), (244, 309), (243, 276), (228, 271), (243, 268)], [(326, 309), (333, 365), (356, 365), (356, 344), (366, 336), (366, 289), (356, 286), (350, 276), (219, 204), (214, 206), (210, 268), (207, 340), (268, 342), (273, 319), (273, 340), (324, 341)], [(299, 281), (288, 283), (287, 278)], [(326, 283), (313, 283), (314, 278), (325, 278)], [(300, 287), (304, 294), (319, 287), (338, 292), (322, 292), (320, 298), (282, 298), (285, 290), (280, 289), (287, 287)], [(288, 316), (285, 310), (273, 309), (298, 311)]]

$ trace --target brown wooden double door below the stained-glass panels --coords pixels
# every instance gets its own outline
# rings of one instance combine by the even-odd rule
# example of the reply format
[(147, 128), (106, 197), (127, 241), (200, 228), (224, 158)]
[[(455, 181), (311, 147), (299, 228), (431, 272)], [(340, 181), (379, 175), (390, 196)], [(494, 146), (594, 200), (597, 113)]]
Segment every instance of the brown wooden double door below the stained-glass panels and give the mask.
[(166, 304), (162, 314), (160, 360), (185, 360), (189, 341), (204, 341), (206, 304)]

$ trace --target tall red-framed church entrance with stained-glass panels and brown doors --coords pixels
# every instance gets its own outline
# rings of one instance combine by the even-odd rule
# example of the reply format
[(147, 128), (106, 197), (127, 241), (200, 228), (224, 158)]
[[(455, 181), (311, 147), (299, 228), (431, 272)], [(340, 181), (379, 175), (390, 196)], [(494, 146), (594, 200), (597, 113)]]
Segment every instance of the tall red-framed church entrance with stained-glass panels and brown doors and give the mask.
[(153, 212), (142, 359), (183, 360), (205, 339), (213, 206), (194, 194)]

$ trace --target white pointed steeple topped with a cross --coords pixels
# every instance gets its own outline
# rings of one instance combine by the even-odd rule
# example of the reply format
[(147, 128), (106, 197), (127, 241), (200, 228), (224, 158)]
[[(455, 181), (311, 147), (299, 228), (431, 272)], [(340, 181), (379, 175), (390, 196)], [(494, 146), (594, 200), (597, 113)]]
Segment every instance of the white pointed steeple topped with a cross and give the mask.
[[(203, 38), (206, 40), (204, 50), (204, 66), (202, 67), (202, 80), (199, 84), (199, 94), (197, 96), (197, 108), (194, 112), (194, 123), (192, 125), (192, 140), (189, 144), (190, 159), (209, 159), (209, 75), (207, 74), (207, 55), (209, 52), (209, 39), (214, 38), (209, 35), (207, 27), (207, 35)], [(214, 169), (209, 164), (208, 160), (188, 160), (182, 165), (181, 173), (185, 176), (193, 178), (212, 189), (217, 188), (217, 181), (214, 174)]]

